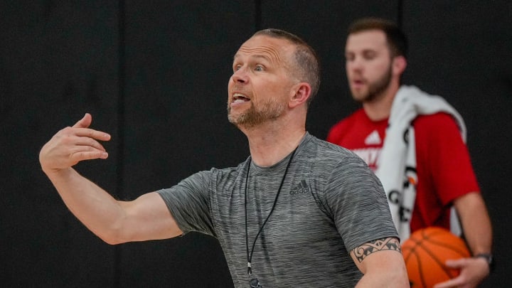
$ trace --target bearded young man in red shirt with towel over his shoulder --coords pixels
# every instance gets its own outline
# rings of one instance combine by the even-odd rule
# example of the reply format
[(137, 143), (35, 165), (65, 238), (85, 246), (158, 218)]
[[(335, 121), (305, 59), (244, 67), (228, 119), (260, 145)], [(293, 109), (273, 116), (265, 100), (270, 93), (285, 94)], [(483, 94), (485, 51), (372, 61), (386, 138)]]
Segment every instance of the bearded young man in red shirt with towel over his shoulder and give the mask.
[(363, 18), (350, 26), (346, 73), (363, 107), (335, 124), (327, 141), (373, 169), (402, 241), (428, 226), (462, 228), (474, 257), (447, 262), (461, 274), (436, 287), (476, 287), (490, 272), (492, 231), (464, 121), (441, 97), (401, 84), (406, 53), (407, 38), (393, 22)]

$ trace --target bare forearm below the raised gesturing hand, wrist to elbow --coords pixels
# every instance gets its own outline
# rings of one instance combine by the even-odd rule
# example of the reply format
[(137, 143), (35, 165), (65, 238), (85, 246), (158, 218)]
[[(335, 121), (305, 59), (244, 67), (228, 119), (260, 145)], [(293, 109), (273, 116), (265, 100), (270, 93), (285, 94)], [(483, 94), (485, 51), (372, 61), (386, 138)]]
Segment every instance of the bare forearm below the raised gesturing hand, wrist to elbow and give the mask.
[(119, 219), (124, 212), (117, 201), (73, 168), (47, 172), (60, 197), (70, 211), (98, 237), (117, 243)]

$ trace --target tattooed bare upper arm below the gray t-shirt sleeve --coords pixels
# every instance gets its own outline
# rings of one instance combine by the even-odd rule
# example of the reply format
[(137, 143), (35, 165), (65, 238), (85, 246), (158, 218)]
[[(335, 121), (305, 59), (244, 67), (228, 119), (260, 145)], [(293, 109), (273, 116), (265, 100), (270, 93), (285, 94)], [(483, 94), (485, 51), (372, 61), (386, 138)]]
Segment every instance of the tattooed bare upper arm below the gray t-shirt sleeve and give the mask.
[(410, 287), (397, 238), (367, 242), (351, 251), (363, 277), (356, 287)]

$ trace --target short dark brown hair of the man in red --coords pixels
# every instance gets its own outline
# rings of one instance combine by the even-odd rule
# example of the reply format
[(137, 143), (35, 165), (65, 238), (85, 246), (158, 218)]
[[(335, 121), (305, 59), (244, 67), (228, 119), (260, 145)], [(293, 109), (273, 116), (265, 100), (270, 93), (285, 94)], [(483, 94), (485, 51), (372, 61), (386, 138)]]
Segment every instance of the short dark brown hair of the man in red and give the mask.
[(391, 54), (394, 57), (403, 56), (407, 58), (407, 36), (393, 21), (376, 17), (361, 18), (351, 23), (348, 27), (348, 35), (368, 30), (383, 31)]

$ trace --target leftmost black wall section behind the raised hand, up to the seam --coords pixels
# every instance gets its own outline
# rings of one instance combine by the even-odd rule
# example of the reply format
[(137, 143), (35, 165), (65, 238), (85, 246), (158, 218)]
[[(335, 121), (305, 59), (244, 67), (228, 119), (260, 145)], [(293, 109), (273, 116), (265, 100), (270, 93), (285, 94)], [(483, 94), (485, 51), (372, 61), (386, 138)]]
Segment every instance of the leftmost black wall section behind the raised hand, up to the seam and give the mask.
[[(117, 127), (117, 5), (0, 3), (0, 281), (3, 287), (111, 286), (114, 247), (71, 215), (38, 164), (58, 129), (87, 112)], [(112, 150), (112, 159), (116, 158)], [(114, 161), (80, 171), (115, 191)], [(98, 177), (100, 175), (100, 177)]]

